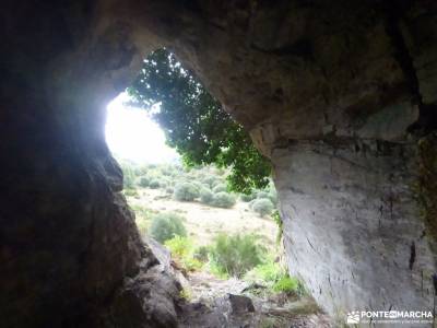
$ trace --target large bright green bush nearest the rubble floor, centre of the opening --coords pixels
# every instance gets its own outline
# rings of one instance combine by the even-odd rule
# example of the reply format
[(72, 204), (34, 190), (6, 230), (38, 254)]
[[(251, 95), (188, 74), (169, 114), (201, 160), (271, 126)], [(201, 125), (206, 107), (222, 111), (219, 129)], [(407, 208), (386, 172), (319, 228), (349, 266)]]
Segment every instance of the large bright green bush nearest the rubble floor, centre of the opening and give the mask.
[(210, 260), (220, 273), (239, 278), (262, 262), (264, 251), (255, 235), (220, 234), (210, 248)]

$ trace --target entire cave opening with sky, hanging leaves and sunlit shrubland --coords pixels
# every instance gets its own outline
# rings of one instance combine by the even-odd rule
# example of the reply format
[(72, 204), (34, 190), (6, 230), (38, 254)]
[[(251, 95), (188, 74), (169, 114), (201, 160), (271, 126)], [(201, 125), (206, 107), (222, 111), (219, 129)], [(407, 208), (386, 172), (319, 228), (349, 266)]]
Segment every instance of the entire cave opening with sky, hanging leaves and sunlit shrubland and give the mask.
[[(140, 236), (181, 284), (180, 297), (214, 308), (214, 320), (226, 312), (226, 298), (252, 314), (253, 325), (286, 325), (297, 303), (308, 316), (318, 309), (304, 282), (288, 273), (270, 173), (236, 172), (241, 160), (232, 156), (240, 154), (226, 153), (229, 142), (247, 142), (225, 136), (234, 125), (194, 74), (162, 49), (108, 104), (105, 136)], [(269, 318), (275, 312), (283, 315)]]

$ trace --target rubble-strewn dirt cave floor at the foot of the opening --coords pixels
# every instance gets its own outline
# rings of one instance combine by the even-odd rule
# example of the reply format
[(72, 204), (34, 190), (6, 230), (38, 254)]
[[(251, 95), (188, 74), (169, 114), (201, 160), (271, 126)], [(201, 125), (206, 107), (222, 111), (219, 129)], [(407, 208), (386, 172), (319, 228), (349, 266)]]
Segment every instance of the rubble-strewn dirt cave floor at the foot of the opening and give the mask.
[(333, 327), (308, 296), (268, 295), (262, 286), (208, 272), (189, 273), (190, 302), (180, 327)]

